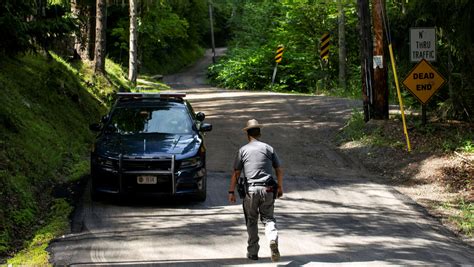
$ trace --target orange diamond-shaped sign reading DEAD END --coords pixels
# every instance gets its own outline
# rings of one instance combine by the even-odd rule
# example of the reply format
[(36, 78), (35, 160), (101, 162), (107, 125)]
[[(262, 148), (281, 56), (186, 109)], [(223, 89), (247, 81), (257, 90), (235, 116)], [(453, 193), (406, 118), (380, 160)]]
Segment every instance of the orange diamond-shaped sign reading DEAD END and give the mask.
[(446, 80), (433, 66), (425, 59), (422, 59), (410, 71), (410, 74), (403, 81), (408, 90), (422, 104), (428, 103), (430, 98), (444, 85)]

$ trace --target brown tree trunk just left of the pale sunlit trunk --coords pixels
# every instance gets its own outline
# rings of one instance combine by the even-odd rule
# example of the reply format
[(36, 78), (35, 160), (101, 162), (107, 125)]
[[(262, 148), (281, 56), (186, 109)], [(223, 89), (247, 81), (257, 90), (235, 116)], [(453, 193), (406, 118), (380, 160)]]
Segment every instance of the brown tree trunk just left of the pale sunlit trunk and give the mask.
[(97, 0), (95, 28), (95, 73), (105, 74), (105, 30), (107, 27), (106, 0)]

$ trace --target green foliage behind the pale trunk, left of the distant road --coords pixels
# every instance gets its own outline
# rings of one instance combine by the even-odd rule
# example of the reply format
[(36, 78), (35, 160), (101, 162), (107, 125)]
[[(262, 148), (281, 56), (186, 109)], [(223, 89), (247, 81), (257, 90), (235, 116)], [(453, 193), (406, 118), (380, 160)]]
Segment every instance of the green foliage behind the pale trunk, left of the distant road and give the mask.
[[(128, 8), (110, 7), (107, 23), (109, 56), (128, 65)], [(138, 26), (140, 72), (166, 74), (195, 62), (208, 28), (206, 1), (145, 1)]]

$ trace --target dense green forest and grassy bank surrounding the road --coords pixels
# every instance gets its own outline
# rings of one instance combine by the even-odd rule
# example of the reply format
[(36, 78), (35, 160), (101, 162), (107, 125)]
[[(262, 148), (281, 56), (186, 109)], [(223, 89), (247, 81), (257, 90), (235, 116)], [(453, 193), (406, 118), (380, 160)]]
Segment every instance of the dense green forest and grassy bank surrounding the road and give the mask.
[[(378, 11), (383, 23), (374, 20)], [(45, 209), (55, 210), (53, 188), (63, 182), (58, 176), (87, 171), (88, 122), (116, 91), (133, 90), (137, 75), (178, 71), (214, 41), (228, 47), (209, 68), (218, 86), (356, 99), (367, 98), (373, 87), (388, 106), (398, 104), (388, 43), (402, 79), (414, 66), (410, 28), (435, 27), (432, 64), (447, 84), (428, 110), (440, 120), (472, 122), (473, 15), (469, 0), (2, 0), (0, 257), (24, 246), (37, 218), (47, 221)], [(326, 33), (329, 56), (322, 59)], [(373, 58), (363, 52), (377, 43), (386, 88), (372, 80)], [(275, 72), (279, 45), (284, 50)], [(409, 92), (402, 94), (407, 106), (419, 108)], [(69, 110), (69, 117), (55, 121), (46, 106), (55, 114)]]

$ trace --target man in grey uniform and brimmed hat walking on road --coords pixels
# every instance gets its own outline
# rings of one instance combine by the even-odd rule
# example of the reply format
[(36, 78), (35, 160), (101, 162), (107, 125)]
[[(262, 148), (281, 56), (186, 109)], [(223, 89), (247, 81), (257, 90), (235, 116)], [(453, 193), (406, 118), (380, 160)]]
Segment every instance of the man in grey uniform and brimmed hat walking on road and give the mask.
[[(283, 196), (283, 170), (274, 149), (258, 140), (262, 125), (252, 119), (243, 130), (247, 132), (249, 143), (239, 149), (234, 161), (229, 187), (229, 201), (235, 203), (235, 187), (240, 174), (246, 179), (246, 194), (243, 200), (245, 223), (247, 225), (247, 258), (258, 260), (258, 217), (265, 225), (265, 235), (270, 242), (272, 261), (280, 260), (278, 251), (278, 231), (273, 216), (275, 198)], [(275, 170), (276, 179), (272, 175)], [(276, 185), (278, 183), (278, 186)]]

